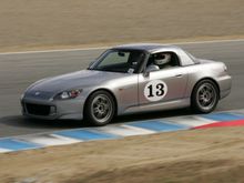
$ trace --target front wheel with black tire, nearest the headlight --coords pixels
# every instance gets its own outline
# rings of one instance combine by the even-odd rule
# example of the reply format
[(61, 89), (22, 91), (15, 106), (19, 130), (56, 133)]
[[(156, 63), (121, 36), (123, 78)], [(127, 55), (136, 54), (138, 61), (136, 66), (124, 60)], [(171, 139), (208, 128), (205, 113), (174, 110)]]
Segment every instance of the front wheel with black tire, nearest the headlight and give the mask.
[(113, 96), (106, 91), (92, 93), (84, 106), (84, 119), (91, 125), (102, 126), (111, 122), (115, 113)]

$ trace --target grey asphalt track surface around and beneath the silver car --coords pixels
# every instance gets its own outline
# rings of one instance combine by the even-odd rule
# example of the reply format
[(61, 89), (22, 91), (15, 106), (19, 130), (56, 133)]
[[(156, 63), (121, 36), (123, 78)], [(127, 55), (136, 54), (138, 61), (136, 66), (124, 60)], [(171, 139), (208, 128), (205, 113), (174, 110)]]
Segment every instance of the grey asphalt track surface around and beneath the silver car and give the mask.
[[(181, 44), (199, 58), (223, 61), (233, 77), (232, 93), (218, 103), (216, 111), (244, 108), (244, 41), (220, 41)], [(27, 120), (20, 114), (19, 98), (32, 82), (57, 74), (85, 69), (103, 49), (67, 50), (0, 54), (0, 138), (47, 131), (82, 128), (75, 121)], [(173, 110), (121, 116), (116, 123), (144, 119), (187, 115), (191, 111)]]

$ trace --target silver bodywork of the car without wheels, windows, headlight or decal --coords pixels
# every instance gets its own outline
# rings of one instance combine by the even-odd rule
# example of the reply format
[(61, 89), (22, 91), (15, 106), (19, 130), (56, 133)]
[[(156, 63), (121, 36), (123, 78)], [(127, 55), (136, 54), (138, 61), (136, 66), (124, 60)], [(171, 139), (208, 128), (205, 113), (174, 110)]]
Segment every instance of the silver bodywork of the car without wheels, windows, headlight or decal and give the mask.
[[(202, 79), (211, 79), (217, 83), (221, 99), (231, 92), (232, 79), (222, 62), (200, 59), (193, 61), (182, 49), (171, 45), (129, 44), (115, 49), (139, 49), (149, 53), (171, 51), (177, 54), (181, 65), (150, 72), (148, 75), (143, 72), (83, 70), (44, 79), (33, 83), (24, 92), (21, 99), (23, 114), (49, 120), (81, 120), (85, 101), (96, 90), (111, 92), (118, 115), (190, 106), (193, 88)], [(146, 84), (153, 81), (162, 81), (167, 88), (161, 100), (151, 101), (145, 96)], [(82, 93), (75, 99), (54, 100), (58, 93), (72, 89), (82, 89)], [(54, 112), (49, 115), (33, 115), (26, 109), (26, 103), (53, 106)]]

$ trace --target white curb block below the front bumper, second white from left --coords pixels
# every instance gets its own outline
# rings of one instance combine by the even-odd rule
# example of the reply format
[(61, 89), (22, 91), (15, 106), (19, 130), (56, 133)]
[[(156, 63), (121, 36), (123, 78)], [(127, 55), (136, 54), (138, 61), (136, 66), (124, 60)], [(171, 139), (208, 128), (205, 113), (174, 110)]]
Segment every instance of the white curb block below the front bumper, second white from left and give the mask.
[(40, 144), (43, 146), (50, 145), (64, 145), (64, 144), (72, 144), (82, 142), (81, 140), (75, 140), (71, 138), (65, 138), (57, 134), (37, 134), (37, 135), (26, 135), (19, 138), (22, 141)]

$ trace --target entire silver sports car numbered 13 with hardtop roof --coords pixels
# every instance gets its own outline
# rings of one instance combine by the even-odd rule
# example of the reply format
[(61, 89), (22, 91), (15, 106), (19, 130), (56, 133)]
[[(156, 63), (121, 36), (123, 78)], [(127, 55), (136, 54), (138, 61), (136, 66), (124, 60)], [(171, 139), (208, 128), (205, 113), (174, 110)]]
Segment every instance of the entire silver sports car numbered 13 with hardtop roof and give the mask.
[(191, 106), (213, 111), (231, 92), (222, 62), (181, 48), (126, 44), (106, 50), (87, 70), (40, 80), (21, 96), (22, 113), (104, 125), (114, 115)]

